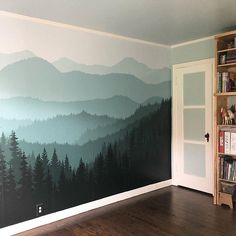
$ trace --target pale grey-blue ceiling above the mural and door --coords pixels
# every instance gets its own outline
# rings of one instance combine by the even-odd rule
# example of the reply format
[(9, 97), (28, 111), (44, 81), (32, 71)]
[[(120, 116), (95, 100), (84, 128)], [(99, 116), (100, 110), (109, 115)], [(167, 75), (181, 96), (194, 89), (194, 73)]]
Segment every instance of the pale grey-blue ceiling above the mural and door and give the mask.
[(0, 10), (173, 45), (236, 28), (235, 0), (0, 0)]

